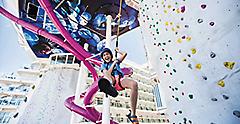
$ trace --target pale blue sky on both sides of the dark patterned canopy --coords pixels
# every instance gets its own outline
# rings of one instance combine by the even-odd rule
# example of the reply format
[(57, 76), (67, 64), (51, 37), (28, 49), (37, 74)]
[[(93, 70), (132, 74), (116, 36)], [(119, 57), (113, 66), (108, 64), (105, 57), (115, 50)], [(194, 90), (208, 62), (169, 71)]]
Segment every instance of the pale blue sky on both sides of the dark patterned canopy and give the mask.
[[(2, 1), (0, 0), (2, 6)], [(0, 73), (11, 73), (29, 65), (32, 60), (28, 53), (20, 47), (18, 36), (12, 23), (0, 15)], [(119, 48), (128, 53), (127, 59), (139, 64), (146, 63), (140, 29), (123, 34), (119, 38)]]

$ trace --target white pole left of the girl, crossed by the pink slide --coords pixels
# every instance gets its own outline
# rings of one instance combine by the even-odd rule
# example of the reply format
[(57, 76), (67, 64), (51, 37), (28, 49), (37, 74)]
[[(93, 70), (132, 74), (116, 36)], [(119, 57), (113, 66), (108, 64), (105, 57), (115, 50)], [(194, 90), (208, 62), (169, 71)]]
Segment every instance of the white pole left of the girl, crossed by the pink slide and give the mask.
[[(87, 49), (88, 44), (84, 45), (84, 49)], [(79, 75), (78, 75), (78, 82), (77, 82), (77, 87), (76, 87), (76, 92), (75, 92), (75, 99), (74, 103), (78, 106), (83, 106), (83, 99), (80, 99), (80, 95), (83, 91), (86, 90), (87, 87), (87, 67), (81, 62), (81, 67), (79, 70)], [(72, 117), (71, 117), (71, 124), (76, 124), (80, 123), (82, 121), (83, 117), (76, 114), (75, 112), (72, 112)]]

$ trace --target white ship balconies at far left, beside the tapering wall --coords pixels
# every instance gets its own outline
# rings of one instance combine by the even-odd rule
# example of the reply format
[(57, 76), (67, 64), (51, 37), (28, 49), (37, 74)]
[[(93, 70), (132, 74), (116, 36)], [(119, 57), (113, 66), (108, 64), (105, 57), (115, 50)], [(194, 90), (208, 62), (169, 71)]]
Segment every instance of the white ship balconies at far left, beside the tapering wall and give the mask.
[(16, 73), (0, 76), (0, 123), (7, 124), (23, 111), (41, 79), (42, 65), (33, 63)]

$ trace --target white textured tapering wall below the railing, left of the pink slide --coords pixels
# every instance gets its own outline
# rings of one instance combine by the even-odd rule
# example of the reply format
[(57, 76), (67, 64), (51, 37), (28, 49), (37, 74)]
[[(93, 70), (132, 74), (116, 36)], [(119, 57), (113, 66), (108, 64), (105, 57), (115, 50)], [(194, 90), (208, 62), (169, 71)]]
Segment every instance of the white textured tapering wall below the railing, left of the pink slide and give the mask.
[(64, 101), (74, 95), (77, 77), (78, 71), (74, 69), (52, 68), (47, 71), (18, 123), (70, 123), (71, 112), (64, 106)]

